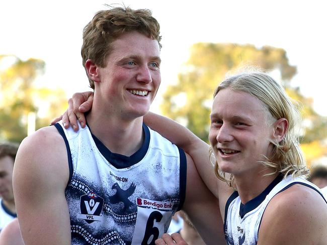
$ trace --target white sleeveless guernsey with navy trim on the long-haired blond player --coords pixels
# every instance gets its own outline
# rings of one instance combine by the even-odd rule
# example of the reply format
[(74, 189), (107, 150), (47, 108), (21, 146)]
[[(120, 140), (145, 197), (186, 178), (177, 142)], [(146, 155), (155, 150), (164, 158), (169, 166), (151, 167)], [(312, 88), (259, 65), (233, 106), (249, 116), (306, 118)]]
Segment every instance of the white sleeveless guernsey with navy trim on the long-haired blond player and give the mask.
[(278, 176), (259, 196), (246, 204), (241, 203), (238, 193), (235, 191), (227, 200), (225, 207), (224, 231), (227, 244), (257, 244), (262, 216), (269, 201), (276, 194), (294, 184), (308, 186), (317, 191), (324, 199), (317, 186), (303, 177), (292, 178), (290, 175), (285, 179), (282, 176)]

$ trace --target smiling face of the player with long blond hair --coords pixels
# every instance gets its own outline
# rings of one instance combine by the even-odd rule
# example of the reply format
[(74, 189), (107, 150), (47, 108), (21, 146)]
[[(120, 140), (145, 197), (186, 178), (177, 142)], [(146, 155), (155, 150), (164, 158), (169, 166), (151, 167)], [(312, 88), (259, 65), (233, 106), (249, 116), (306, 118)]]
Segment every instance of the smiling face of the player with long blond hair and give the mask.
[(210, 115), (209, 141), (219, 169), (235, 177), (263, 170), (258, 161), (272, 152), (273, 126), (267, 126), (264, 104), (247, 92), (222, 89)]

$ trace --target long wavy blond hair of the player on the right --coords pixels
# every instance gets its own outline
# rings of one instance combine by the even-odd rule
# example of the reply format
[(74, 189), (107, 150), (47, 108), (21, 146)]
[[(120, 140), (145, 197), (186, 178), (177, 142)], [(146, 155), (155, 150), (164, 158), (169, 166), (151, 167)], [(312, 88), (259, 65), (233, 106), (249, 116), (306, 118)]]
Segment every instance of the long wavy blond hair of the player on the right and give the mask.
[[(307, 176), (309, 170), (306, 168), (305, 159), (299, 146), (297, 132), (301, 118), (297, 108), (298, 104), (292, 101), (272, 77), (263, 72), (247, 72), (228, 77), (215, 89), (213, 97), (227, 87), (235, 91), (248, 92), (260, 99), (266, 107), (267, 124), (280, 118), (286, 118), (288, 121), (289, 126), (284, 139), (281, 142), (271, 141), (274, 145), (272, 156), (270, 158), (265, 156), (266, 161), (260, 162), (267, 168), (273, 169), (269, 175), (281, 173), (284, 177), (288, 175)], [(212, 156), (212, 148), (210, 148), (209, 154)], [(216, 160), (213, 165), (216, 176), (233, 187), (233, 175), (230, 174), (226, 178), (225, 173), (219, 170)]]

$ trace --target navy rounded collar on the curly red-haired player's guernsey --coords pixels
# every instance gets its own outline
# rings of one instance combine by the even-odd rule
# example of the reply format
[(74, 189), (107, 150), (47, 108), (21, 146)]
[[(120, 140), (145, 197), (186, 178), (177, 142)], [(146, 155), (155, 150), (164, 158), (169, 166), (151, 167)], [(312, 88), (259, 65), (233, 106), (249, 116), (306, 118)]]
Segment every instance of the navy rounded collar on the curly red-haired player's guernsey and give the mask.
[(92, 134), (92, 131), (89, 127), (92, 138), (96, 143), (98, 150), (107, 159), (107, 161), (117, 169), (131, 167), (144, 158), (150, 144), (150, 131), (145, 124), (143, 124), (142, 128), (144, 133), (144, 142), (141, 148), (130, 157), (127, 157), (118, 153), (111, 152), (95, 135)]

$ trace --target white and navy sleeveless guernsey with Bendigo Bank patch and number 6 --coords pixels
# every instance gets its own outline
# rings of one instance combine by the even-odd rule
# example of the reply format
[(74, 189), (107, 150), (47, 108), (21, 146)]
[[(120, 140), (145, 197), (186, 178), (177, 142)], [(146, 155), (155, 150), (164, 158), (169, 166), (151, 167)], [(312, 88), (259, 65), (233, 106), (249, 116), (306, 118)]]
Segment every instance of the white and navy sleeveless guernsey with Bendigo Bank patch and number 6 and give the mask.
[(110, 152), (90, 129), (55, 127), (68, 153), (65, 195), (71, 244), (154, 244), (185, 200), (186, 156), (143, 125), (130, 157)]

